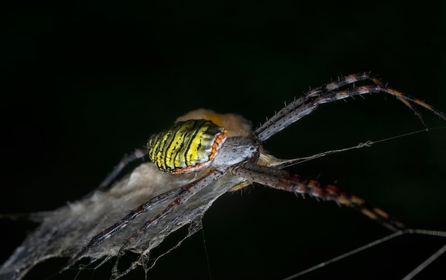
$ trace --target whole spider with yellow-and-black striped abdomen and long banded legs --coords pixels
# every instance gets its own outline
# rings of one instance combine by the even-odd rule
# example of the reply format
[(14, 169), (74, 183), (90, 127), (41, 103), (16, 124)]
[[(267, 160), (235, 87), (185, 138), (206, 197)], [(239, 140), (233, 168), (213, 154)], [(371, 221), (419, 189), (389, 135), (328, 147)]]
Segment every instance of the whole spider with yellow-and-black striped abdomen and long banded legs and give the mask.
[[(357, 82), (364, 82), (364, 85), (357, 86)], [(125, 156), (100, 184), (99, 188), (109, 185), (128, 163), (147, 154), (160, 171), (173, 174), (200, 172), (195, 181), (163, 193), (131, 210), (123, 219), (95, 235), (81, 252), (71, 259), (68, 266), (75, 264), (90, 249), (97, 247), (105, 239), (120, 232), (142, 213), (152, 210), (154, 205), (170, 201), (164, 210), (147, 220), (120, 247), (118, 256), (122, 255), (175, 208), (188, 203), (188, 200), (194, 195), (225, 175), (241, 178), (239, 183), (227, 188), (229, 191), (239, 190), (251, 183), (260, 183), (291, 193), (309, 195), (316, 199), (332, 200), (340, 205), (347, 205), (359, 210), (363, 215), (379, 222), (393, 232), (405, 230), (405, 225), (402, 222), (383, 210), (366, 203), (361, 198), (345, 193), (334, 185), (322, 185), (318, 181), (306, 180), (301, 176), (281, 170), (291, 161), (275, 158), (267, 154), (261, 146), (274, 134), (316, 110), (320, 104), (378, 92), (392, 95), (403, 102), (420, 119), (426, 129), (424, 120), (413, 104), (430, 110), (446, 121), (445, 115), (430, 105), (420, 99), (408, 97), (386, 87), (383, 82), (372, 77), (368, 72), (339, 77), (334, 82), (310, 90), (304, 97), (295, 99), (294, 102), (286, 105), (251, 133), (247, 133), (246, 129), (241, 129), (240, 127), (244, 124), (238, 121), (234, 124), (234, 121), (229, 122), (213, 112), (199, 112), (201, 117), (186, 117), (187, 120), (176, 122), (170, 128), (153, 134), (147, 147), (137, 149), (133, 154)]]

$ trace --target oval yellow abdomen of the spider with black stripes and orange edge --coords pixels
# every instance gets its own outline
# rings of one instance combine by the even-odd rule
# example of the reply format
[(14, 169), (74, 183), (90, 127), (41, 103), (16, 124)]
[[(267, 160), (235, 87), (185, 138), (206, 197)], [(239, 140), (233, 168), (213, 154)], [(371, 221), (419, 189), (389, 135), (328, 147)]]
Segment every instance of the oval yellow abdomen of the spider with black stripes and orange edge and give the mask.
[(226, 139), (226, 129), (206, 119), (177, 122), (150, 136), (150, 160), (161, 171), (190, 173), (209, 165)]

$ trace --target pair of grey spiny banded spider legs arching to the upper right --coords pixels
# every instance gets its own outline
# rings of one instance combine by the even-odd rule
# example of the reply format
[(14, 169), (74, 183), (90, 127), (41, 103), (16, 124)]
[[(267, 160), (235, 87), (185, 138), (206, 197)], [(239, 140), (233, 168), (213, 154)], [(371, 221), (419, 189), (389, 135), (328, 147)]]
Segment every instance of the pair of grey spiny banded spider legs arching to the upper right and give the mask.
[[(370, 85), (356, 87), (355, 82), (361, 81), (368, 81), (370, 82)], [(348, 89), (338, 91), (342, 87), (348, 87)], [(419, 106), (430, 110), (441, 119), (446, 120), (446, 116), (444, 114), (437, 111), (437, 109), (431, 107), (429, 104), (422, 102), (420, 99), (409, 97), (407, 95), (403, 95), (401, 92), (390, 89), (377, 78), (371, 77), (368, 72), (361, 72), (358, 74), (340, 77), (336, 82), (331, 82), (310, 90), (304, 97), (294, 100), (294, 102), (291, 102), (279, 112), (274, 114), (271, 119), (256, 129), (254, 134), (258, 136), (260, 142), (266, 141), (266, 139), (269, 139), (269, 137), (273, 136), (277, 132), (285, 129), (287, 126), (316, 110), (319, 104), (335, 102), (336, 100), (346, 99), (357, 95), (373, 94), (378, 92), (393, 95), (399, 99), (400, 102), (403, 102), (415, 113), (415, 115), (417, 115), (425, 127), (427, 127), (425, 122), (412, 104), (418, 104)]]

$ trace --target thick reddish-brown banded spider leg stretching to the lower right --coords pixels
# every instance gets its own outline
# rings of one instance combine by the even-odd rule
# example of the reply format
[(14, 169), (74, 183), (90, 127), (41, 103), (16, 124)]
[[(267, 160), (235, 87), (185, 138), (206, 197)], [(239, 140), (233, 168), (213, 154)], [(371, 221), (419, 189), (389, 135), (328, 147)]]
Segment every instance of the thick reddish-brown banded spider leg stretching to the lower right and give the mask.
[(271, 188), (286, 190), (291, 193), (307, 194), (313, 198), (333, 200), (338, 204), (347, 205), (359, 210), (364, 215), (370, 217), (370, 219), (379, 222), (394, 232), (405, 229), (402, 222), (395, 220), (388, 213), (375, 208), (355, 195), (339, 190), (334, 185), (321, 185), (318, 181), (305, 180), (298, 175), (291, 175), (286, 171), (268, 166), (259, 166), (255, 163), (244, 163), (242, 166), (233, 168), (232, 173), (256, 183), (268, 185)]

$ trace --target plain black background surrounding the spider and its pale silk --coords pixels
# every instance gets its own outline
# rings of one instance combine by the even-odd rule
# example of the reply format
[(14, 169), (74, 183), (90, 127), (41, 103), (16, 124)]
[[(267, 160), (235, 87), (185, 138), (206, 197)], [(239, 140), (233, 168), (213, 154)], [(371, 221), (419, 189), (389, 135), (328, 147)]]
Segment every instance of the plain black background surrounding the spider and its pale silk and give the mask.
[[(0, 11), (1, 213), (81, 198), (123, 154), (192, 109), (239, 113), (258, 126), (338, 75), (370, 70), (446, 111), (442, 1), (141, 2), (22, 2)], [(446, 230), (445, 122), (422, 113), (442, 129), (291, 171), (336, 183), (410, 227)], [(308, 156), (419, 129), (393, 97), (358, 97), (324, 105), (266, 149)], [(224, 195), (203, 222), (207, 254), (198, 233), (150, 279), (209, 279), (209, 271), (212, 279), (282, 279), (390, 233), (354, 210), (261, 185)], [(32, 229), (1, 220), (0, 262)], [(402, 237), (303, 279), (400, 279), (444, 243)], [(445, 260), (420, 279), (445, 276)], [(129, 279), (143, 279), (140, 272)]]

